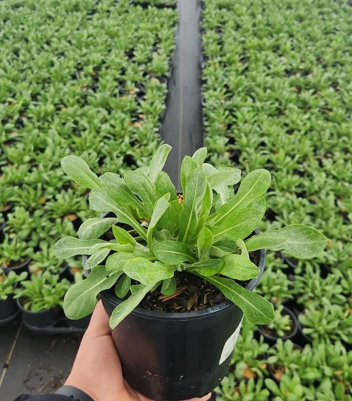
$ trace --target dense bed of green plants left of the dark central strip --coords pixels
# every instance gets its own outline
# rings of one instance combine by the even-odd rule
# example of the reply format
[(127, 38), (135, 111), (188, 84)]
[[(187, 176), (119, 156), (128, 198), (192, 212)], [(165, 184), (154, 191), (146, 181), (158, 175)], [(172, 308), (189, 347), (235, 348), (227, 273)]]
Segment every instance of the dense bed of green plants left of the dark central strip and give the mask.
[(0, 209), (14, 206), (1, 265), (36, 260), (92, 215), (63, 156), (100, 173), (148, 164), (178, 17), (128, 0), (8, 0), (0, 15)]

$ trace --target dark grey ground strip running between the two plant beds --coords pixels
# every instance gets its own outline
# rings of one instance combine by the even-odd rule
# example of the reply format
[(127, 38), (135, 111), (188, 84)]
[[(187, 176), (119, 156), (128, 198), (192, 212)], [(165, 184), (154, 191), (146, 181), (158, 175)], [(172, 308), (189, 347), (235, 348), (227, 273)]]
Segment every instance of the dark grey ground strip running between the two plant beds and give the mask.
[(172, 146), (165, 170), (177, 189), (185, 155), (203, 146), (204, 130), (201, 101), (200, 0), (178, 0), (178, 31), (173, 69), (166, 97), (161, 136)]

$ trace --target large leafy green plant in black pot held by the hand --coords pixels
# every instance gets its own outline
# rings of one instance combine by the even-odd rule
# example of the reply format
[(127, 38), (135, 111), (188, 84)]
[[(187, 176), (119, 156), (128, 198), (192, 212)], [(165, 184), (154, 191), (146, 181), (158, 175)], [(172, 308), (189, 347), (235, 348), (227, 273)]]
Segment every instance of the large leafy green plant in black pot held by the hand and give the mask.
[[(126, 379), (155, 400), (207, 394), (227, 372), (243, 314), (256, 324), (272, 321), (272, 305), (251, 291), (265, 248), (307, 258), (326, 244), (323, 234), (300, 224), (255, 231), (269, 171), (250, 172), (234, 194), (241, 171), (204, 163), (206, 148), (184, 158), (178, 195), (162, 171), (170, 148), (162, 145), (149, 167), (123, 177), (98, 178), (79, 157), (63, 158), (66, 174), (92, 189), (92, 209), (107, 214), (91, 221), (89, 234), (54, 245), (59, 258), (94, 257), (88, 277), (65, 295), (66, 316), (88, 315), (100, 293)], [(111, 230), (115, 238), (108, 240)]]

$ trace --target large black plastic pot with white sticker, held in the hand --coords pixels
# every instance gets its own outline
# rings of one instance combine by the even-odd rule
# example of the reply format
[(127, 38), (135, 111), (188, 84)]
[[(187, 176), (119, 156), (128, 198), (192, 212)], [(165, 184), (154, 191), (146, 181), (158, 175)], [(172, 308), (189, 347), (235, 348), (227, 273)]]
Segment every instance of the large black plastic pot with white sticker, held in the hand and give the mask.
[[(260, 273), (249, 281), (248, 290), (254, 289), (264, 271), (265, 250), (257, 252)], [(83, 265), (86, 260), (83, 256)], [(108, 290), (100, 295), (110, 316), (121, 300)], [(228, 372), (242, 318), (242, 310), (230, 301), (186, 313), (135, 308), (112, 331), (124, 377), (155, 401), (204, 396)]]

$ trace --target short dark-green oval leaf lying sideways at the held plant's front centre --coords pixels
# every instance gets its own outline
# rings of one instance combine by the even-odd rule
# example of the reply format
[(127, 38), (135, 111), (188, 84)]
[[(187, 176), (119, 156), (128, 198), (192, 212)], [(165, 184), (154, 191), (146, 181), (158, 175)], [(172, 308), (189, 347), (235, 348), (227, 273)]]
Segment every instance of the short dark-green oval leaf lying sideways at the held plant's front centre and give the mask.
[(182, 242), (163, 241), (153, 248), (155, 256), (168, 265), (179, 265), (183, 262), (196, 262), (190, 249)]

